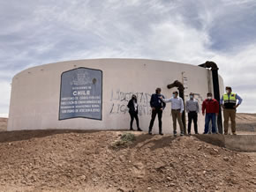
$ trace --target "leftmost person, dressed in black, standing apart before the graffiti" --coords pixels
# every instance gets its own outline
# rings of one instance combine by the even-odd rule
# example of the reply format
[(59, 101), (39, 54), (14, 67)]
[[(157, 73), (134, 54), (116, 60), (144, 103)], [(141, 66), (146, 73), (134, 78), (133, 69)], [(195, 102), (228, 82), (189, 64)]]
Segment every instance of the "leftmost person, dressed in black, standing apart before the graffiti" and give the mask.
[(130, 130), (132, 129), (132, 124), (133, 124), (133, 120), (135, 118), (136, 120), (136, 124), (137, 124), (137, 129), (139, 131), (142, 131), (141, 129), (139, 129), (139, 117), (138, 117), (138, 103), (137, 103), (137, 97), (136, 95), (132, 95), (132, 100), (129, 100), (128, 106), (129, 108), (129, 114), (131, 116), (131, 122), (130, 122)]

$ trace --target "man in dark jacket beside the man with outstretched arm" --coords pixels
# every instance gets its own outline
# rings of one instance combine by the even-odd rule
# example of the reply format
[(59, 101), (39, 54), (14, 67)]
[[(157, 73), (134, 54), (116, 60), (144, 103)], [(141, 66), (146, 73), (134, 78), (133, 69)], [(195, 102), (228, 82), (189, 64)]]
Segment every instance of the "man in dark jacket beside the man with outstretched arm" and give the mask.
[(148, 134), (152, 135), (152, 128), (154, 126), (154, 119), (156, 114), (158, 114), (158, 123), (159, 123), (159, 134), (162, 134), (162, 110), (165, 108), (166, 104), (162, 102), (160, 98), (164, 99), (164, 96), (161, 94), (161, 88), (156, 88), (155, 93), (152, 94), (150, 100), (150, 107), (152, 108), (152, 116), (149, 124)]

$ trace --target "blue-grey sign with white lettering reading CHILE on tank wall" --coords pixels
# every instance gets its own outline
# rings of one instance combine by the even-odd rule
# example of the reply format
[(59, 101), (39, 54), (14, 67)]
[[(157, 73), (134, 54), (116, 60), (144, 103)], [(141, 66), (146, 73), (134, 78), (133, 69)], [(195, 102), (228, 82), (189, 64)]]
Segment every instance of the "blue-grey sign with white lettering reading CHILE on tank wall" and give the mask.
[(61, 75), (59, 120), (102, 120), (102, 70), (77, 68)]

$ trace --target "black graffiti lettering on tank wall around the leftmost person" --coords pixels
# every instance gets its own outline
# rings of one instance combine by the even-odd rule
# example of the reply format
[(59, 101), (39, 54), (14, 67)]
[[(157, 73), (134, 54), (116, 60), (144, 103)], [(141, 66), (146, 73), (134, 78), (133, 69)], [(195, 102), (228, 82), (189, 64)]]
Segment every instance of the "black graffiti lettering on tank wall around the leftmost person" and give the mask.
[(111, 107), (110, 114), (126, 114), (129, 109), (128, 101), (132, 99), (132, 94), (137, 96), (139, 115), (150, 115), (150, 98), (151, 94), (147, 92), (122, 92), (120, 90), (111, 91)]

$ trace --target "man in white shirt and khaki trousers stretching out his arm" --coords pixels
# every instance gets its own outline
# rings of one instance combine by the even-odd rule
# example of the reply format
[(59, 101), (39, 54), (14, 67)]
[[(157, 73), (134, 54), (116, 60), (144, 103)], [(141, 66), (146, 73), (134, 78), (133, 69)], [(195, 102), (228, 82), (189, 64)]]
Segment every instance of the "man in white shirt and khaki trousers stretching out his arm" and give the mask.
[(171, 115), (172, 115), (172, 122), (173, 122), (173, 135), (177, 137), (177, 122), (180, 128), (180, 136), (184, 136), (184, 126), (181, 120), (182, 113), (184, 111), (184, 101), (182, 98), (178, 97), (178, 92), (172, 93), (172, 98), (164, 100), (161, 99), (163, 102), (168, 103), (171, 102)]

